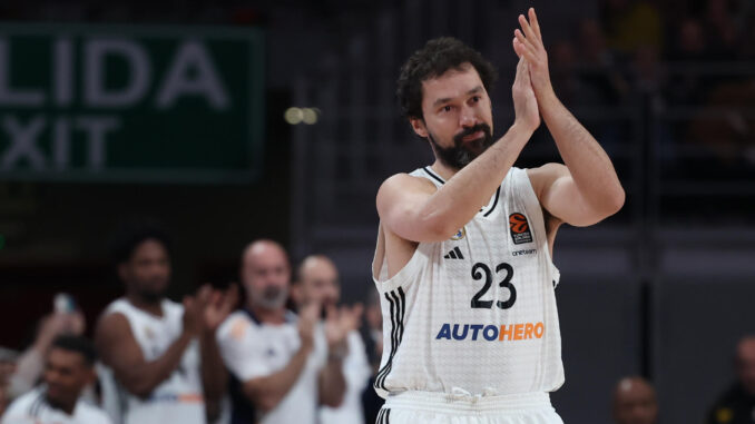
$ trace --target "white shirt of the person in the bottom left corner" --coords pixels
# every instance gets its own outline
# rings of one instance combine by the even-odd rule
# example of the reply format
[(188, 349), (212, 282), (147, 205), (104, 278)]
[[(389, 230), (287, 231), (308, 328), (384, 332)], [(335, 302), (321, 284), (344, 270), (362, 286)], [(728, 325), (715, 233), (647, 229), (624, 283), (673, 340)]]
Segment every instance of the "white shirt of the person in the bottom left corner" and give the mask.
[(82, 401), (77, 402), (73, 413), (68, 415), (47, 402), (45, 387), (37, 387), (10, 404), (0, 423), (111, 424), (111, 421), (104, 411)]

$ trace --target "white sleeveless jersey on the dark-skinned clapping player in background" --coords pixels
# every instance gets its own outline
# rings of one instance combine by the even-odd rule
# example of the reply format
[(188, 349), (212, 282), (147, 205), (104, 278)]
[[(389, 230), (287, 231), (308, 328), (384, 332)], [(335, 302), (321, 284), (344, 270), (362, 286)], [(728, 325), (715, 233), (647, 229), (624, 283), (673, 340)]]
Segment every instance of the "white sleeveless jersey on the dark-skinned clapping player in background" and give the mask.
[[(106, 314), (122, 314), (128, 321), (134, 338), (139, 344), (145, 361), (163, 356), (168, 347), (180, 337), (184, 323), (184, 306), (163, 300), (163, 316), (148, 314), (126, 299), (111, 303)], [(120, 416), (125, 424), (204, 424), (205, 403), (202, 388), (200, 357), (198, 342), (192, 341), (180, 365), (170, 377), (160, 383), (147, 398), (128, 393), (122, 386), (107, 382), (112, 373), (107, 367), (100, 373), (104, 406), (111, 416)], [(116, 390), (117, 393), (110, 393)], [(112, 402), (118, 400), (118, 405)]]

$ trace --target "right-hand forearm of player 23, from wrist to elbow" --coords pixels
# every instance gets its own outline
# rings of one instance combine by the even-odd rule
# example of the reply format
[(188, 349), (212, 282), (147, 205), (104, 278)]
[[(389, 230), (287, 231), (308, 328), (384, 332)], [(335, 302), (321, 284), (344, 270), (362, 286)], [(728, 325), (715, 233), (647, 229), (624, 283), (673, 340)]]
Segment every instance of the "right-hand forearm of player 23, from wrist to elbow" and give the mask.
[(569, 168), (577, 189), (596, 208), (610, 208), (624, 199), (624, 189), (606, 151), (567, 110), (552, 90), (538, 97), (540, 112)]

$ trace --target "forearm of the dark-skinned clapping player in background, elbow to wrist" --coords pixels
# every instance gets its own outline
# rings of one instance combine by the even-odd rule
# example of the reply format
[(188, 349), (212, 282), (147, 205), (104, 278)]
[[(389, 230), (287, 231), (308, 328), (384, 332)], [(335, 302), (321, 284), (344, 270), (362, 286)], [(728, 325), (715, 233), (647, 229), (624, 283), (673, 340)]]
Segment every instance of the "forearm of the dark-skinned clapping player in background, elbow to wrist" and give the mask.
[(145, 363), (143, 366), (130, 367), (127, 375), (120, 375), (119, 379), (124, 386), (133, 394), (147, 397), (149, 394), (166, 381), (170, 374), (178, 367), (184, 356), (184, 351), (192, 342), (192, 336), (184, 333), (174, 342), (170, 347), (159, 358)]

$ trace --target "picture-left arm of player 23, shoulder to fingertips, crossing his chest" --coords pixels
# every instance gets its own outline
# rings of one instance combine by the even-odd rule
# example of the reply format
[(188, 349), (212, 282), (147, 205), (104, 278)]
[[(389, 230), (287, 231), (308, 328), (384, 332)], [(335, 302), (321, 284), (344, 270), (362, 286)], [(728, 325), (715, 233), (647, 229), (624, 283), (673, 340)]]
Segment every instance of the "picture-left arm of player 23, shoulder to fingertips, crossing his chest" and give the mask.
[(458, 171), (440, 189), (426, 180), (398, 174), (378, 191), (381, 223), (411, 241), (441, 241), (453, 236), (483, 207), (540, 125), (528, 63), (520, 59), (512, 87), (516, 120), (506, 135)]

